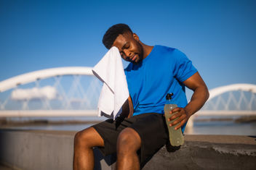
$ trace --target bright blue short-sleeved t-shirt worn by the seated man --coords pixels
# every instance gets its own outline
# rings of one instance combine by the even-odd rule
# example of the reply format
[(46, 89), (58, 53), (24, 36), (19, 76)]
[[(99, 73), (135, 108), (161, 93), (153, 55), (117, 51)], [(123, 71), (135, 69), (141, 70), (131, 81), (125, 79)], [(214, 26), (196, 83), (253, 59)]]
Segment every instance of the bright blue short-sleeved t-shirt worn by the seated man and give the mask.
[(184, 108), (188, 101), (182, 82), (197, 70), (181, 51), (154, 46), (143, 61), (139, 64), (130, 63), (124, 72), (135, 116), (145, 113), (164, 114), (167, 93), (173, 93), (172, 100)]

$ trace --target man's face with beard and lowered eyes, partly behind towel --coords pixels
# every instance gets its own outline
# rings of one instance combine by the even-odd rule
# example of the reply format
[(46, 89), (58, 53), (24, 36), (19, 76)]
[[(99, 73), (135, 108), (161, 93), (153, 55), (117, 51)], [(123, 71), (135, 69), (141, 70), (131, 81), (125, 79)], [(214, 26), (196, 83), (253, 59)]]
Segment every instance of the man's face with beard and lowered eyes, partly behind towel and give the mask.
[(139, 63), (143, 60), (143, 46), (139, 43), (135, 33), (120, 34), (113, 42), (113, 46), (119, 48), (121, 58), (132, 63)]

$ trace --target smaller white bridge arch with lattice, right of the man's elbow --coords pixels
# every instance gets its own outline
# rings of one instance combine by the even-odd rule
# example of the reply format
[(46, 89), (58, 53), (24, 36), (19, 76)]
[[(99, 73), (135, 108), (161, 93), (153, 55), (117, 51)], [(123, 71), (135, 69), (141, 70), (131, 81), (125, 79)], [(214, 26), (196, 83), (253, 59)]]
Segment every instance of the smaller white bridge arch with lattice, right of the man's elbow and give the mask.
[(201, 115), (256, 115), (256, 85), (234, 84), (209, 90)]

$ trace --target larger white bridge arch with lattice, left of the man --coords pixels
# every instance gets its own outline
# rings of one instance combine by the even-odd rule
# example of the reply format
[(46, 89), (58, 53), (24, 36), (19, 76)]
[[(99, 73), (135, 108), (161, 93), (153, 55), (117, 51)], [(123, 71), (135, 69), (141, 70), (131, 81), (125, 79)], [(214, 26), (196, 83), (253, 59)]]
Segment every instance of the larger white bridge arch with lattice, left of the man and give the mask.
[(0, 116), (95, 116), (100, 90), (91, 67), (29, 72), (0, 82)]

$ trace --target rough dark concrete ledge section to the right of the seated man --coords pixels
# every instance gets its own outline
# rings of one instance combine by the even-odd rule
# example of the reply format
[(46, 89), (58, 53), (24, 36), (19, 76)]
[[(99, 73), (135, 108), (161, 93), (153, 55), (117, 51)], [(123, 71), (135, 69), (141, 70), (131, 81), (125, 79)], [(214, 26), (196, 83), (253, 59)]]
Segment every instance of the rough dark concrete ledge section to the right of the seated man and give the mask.
[(185, 135), (175, 153), (161, 148), (144, 169), (255, 169), (256, 137)]

